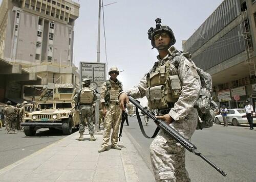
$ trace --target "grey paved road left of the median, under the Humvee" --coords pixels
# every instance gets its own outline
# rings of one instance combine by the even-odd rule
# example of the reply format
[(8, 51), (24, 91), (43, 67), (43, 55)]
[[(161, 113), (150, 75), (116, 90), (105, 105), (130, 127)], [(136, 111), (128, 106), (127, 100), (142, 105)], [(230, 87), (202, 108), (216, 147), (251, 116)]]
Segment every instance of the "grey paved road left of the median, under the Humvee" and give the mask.
[[(0, 169), (65, 137), (61, 131), (43, 128), (34, 137), (26, 137), (23, 132), (7, 135), (4, 129), (0, 131)], [(73, 132), (76, 131), (73, 129)]]

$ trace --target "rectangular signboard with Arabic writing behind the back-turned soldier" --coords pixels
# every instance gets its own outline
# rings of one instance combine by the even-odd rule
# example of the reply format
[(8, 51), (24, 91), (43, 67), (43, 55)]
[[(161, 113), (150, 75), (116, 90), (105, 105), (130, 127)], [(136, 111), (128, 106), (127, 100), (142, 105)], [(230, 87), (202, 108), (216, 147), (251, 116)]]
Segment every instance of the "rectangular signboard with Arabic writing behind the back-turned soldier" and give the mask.
[(100, 93), (101, 86), (106, 81), (106, 64), (80, 62), (80, 83), (83, 79), (91, 80), (90, 87)]

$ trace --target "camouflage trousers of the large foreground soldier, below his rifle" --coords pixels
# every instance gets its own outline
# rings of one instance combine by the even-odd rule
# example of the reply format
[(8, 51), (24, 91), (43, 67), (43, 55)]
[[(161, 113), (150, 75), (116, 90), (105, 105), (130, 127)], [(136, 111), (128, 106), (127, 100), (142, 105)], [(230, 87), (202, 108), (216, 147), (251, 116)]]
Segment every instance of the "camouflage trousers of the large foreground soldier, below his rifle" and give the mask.
[(188, 182), (185, 169), (185, 148), (161, 132), (150, 146), (156, 182)]

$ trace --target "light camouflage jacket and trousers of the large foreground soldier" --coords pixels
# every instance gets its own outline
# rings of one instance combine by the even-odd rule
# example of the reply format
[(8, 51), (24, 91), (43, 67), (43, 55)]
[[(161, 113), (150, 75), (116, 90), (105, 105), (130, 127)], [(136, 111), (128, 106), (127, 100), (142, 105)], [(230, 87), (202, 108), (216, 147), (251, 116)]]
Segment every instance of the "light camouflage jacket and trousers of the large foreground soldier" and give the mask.
[[(178, 101), (175, 102), (174, 107), (172, 109), (169, 108), (168, 114), (173, 118), (169, 125), (186, 139), (190, 139), (195, 132), (198, 122), (198, 112), (194, 106), (200, 93), (199, 75), (195, 66), (185, 57), (181, 58), (178, 66), (175, 66), (172, 56), (177, 51), (174, 46), (171, 46), (166, 57), (162, 60), (159, 56), (157, 57), (158, 62), (156, 64), (159, 67), (164, 65), (166, 61), (170, 61), (170, 74), (179, 76), (182, 88), (181, 95)], [(145, 75), (138, 86), (126, 90), (124, 93), (134, 98), (142, 98), (146, 94), (147, 87)], [(164, 132), (161, 131), (151, 143), (150, 153), (157, 182), (190, 181), (185, 169), (185, 148), (164, 134)]]

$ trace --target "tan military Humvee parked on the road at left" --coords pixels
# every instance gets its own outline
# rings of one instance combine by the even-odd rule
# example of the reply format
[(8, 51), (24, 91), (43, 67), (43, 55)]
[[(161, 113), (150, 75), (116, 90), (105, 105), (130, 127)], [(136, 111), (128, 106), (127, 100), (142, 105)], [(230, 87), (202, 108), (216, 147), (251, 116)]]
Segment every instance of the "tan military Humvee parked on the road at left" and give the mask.
[(79, 126), (79, 111), (75, 109), (73, 97), (76, 89), (70, 84), (55, 84), (54, 93), (42, 92), (35, 111), (26, 113), (21, 126), (26, 136), (34, 136), (37, 129), (60, 129), (63, 135), (72, 134)]

